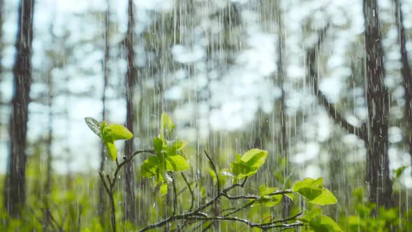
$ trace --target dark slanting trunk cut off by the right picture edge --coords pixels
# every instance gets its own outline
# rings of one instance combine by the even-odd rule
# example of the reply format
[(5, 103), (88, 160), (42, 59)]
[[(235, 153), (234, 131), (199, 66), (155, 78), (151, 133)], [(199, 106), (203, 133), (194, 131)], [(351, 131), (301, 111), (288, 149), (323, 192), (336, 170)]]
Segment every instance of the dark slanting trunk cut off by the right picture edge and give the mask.
[(399, 48), (402, 61), (402, 78), (405, 90), (405, 108), (404, 116), (406, 119), (406, 139), (409, 145), (409, 154), (412, 162), (412, 72), (409, 66), (408, 52), (406, 51), (406, 33), (404, 28), (404, 19), (402, 13), (402, 4), (400, 0), (395, 0), (395, 24), (399, 31)]

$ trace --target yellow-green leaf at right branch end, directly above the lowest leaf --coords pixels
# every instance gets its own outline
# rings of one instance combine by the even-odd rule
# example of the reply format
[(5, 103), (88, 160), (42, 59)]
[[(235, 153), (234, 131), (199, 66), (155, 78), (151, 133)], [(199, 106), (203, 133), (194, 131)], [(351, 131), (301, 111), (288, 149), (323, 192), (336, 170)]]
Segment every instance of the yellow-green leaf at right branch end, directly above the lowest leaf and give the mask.
[(307, 198), (309, 202), (316, 205), (331, 205), (337, 203), (337, 198), (332, 192), (322, 186), (323, 178), (316, 180), (312, 178), (305, 178), (300, 182), (293, 184), (292, 191), (295, 191)]

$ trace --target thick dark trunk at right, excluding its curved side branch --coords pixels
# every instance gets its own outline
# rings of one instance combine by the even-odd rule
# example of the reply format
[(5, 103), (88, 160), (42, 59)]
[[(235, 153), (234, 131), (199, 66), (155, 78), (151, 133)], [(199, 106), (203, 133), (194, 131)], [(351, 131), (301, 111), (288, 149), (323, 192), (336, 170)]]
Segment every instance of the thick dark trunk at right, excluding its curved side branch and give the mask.
[(389, 93), (384, 84), (384, 54), (377, 1), (364, 0), (363, 13), (366, 49), (365, 92), (368, 108), (366, 146), (369, 201), (388, 208), (393, 205), (388, 159)]

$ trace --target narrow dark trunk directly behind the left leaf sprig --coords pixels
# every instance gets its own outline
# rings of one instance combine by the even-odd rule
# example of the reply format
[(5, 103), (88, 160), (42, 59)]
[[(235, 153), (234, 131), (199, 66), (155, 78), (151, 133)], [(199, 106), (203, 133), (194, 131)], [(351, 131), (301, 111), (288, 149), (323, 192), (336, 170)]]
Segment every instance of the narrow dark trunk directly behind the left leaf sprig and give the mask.
[[(136, 77), (133, 51), (133, 34), (134, 34), (134, 16), (133, 16), (133, 1), (128, 0), (128, 26), (126, 37), (127, 50), (127, 73), (126, 73), (126, 127), (133, 133), (133, 95)], [(133, 133), (134, 134), (134, 133)], [(127, 140), (124, 147), (126, 156), (133, 153), (133, 139)], [(135, 220), (135, 193), (134, 193), (134, 177), (133, 177), (133, 162), (125, 165), (124, 175), (126, 179), (126, 191), (124, 201), (124, 219), (130, 222)]]

